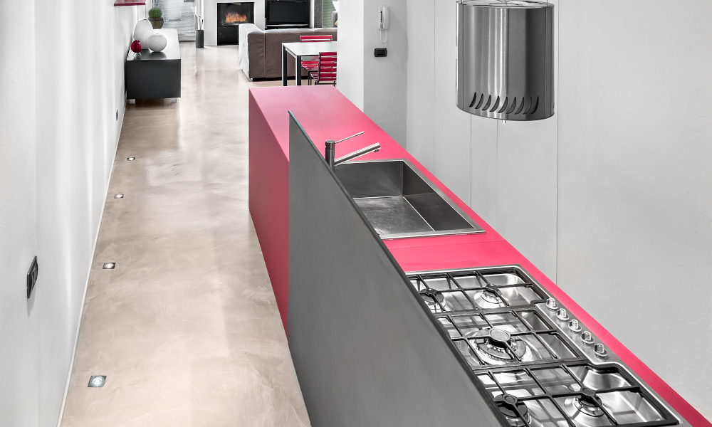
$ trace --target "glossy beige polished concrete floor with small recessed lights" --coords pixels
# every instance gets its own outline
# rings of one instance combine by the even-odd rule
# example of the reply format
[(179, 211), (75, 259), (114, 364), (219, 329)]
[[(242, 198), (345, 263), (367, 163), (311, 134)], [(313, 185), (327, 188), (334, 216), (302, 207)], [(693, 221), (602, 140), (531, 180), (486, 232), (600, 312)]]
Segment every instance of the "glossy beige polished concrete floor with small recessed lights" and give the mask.
[(127, 106), (62, 426), (308, 426), (248, 211), (256, 84), (236, 46), (181, 53), (177, 103)]

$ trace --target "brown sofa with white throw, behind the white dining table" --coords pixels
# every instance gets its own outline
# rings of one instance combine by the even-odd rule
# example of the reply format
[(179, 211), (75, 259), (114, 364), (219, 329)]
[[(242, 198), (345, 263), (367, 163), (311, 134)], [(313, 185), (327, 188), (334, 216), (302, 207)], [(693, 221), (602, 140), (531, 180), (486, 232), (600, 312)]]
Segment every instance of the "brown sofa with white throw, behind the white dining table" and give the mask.
[[(290, 28), (261, 30), (253, 23), (239, 27), (239, 63), (250, 80), (282, 77), (282, 43), (299, 41), (308, 34), (331, 34), (336, 41), (336, 28)], [(287, 62), (288, 77), (295, 76), (295, 61)], [(302, 70), (305, 77), (306, 72)]]

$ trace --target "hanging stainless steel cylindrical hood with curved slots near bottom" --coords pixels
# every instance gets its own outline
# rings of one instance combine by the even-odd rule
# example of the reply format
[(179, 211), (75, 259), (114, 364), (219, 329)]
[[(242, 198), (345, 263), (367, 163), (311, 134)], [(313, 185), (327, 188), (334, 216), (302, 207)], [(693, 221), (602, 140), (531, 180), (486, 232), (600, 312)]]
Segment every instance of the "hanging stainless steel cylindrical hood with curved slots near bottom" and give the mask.
[(504, 120), (554, 115), (553, 4), (457, 0), (457, 107)]

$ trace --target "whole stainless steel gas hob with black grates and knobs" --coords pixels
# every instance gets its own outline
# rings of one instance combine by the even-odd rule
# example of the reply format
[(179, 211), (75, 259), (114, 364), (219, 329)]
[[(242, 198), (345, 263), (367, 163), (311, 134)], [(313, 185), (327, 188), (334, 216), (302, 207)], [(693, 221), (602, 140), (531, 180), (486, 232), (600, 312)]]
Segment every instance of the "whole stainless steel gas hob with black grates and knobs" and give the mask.
[(408, 278), (510, 426), (689, 426), (518, 265)]

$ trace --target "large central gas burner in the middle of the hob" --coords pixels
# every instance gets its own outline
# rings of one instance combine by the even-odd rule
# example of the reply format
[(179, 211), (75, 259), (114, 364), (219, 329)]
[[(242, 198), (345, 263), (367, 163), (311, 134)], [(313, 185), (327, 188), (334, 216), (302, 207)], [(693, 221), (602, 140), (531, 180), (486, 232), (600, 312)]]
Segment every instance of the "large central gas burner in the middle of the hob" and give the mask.
[(534, 359), (529, 346), (521, 339), (512, 338), (506, 330), (493, 327), (478, 330), (471, 336), (475, 338), (475, 351), (486, 364), (501, 365), (518, 360), (531, 362)]

